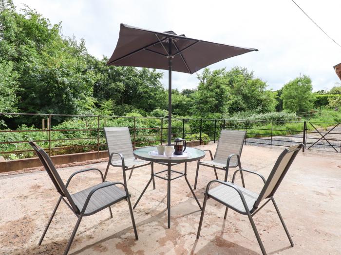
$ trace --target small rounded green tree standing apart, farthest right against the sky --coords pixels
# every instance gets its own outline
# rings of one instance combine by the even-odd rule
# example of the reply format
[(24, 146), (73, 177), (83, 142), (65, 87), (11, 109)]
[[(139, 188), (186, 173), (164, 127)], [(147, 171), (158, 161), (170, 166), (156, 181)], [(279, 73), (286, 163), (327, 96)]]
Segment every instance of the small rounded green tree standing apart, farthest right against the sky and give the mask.
[(283, 109), (296, 113), (313, 109), (316, 97), (312, 90), (311, 79), (307, 75), (300, 75), (288, 82), (283, 86), (281, 96)]

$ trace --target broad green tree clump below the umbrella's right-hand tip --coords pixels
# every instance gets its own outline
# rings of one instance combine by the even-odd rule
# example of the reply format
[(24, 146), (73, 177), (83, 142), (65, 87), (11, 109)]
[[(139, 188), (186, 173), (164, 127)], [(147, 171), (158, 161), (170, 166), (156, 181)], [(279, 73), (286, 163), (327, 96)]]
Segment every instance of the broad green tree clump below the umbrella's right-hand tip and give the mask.
[(198, 75), (198, 90), (193, 93), (193, 114), (233, 114), (236, 112), (271, 112), (277, 104), (276, 93), (255, 78), (246, 68), (225, 68)]

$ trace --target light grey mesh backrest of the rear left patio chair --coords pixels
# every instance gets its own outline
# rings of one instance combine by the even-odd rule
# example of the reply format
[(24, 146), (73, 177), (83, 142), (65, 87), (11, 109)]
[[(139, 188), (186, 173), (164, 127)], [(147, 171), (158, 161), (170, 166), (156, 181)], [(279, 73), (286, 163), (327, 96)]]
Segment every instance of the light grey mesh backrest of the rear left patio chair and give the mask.
[[(132, 139), (128, 127), (105, 127), (104, 134), (109, 155), (111, 153), (122, 153), (125, 159), (134, 158)], [(121, 158), (114, 154), (112, 161), (116, 160), (121, 160)]]

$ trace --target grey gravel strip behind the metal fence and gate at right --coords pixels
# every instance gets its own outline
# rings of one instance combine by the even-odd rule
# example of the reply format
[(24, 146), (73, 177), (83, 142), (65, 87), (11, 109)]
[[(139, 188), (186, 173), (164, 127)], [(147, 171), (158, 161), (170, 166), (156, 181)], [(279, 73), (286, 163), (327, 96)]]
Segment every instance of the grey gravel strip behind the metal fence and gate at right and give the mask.
[[(328, 127), (327, 130), (319, 129), (322, 133), (322, 136), (325, 135), (328, 131), (330, 131), (333, 127)], [(311, 144), (316, 142), (319, 138), (322, 137), (317, 131), (313, 133), (307, 133), (306, 137), (306, 148), (309, 148)], [(329, 134), (325, 136), (328, 142), (334, 146), (336, 150), (333, 149), (332, 146), (325, 139), (321, 139), (317, 142), (317, 144), (313, 145), (309, 150), (315, 151), (324, 151), (324, 152), (335, 152), (340, 153), (341, 150), (341, 124), (334, 128)], [(290, 146), (297, 142), (303, 142), (303, 133), (299, 133), (297, 135), (288, 136), (272, 136), (271, 137), (260, 137), (260, 138), (247, 138), (246, 144), (253, 146), (262, 146), (267, 147), (272, 144), (272, 146)]]

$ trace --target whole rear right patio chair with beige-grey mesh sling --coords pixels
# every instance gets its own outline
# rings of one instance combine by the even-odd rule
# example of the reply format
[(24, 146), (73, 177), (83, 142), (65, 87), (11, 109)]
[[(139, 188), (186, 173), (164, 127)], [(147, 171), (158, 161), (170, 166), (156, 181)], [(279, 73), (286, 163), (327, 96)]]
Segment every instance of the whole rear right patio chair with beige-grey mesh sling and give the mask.
[[(241, 130), (228, 130), (222, 129), (220, 137), (218, 140), (217, 149), (215, 151), (214, 157), (212, 152), (208, 151), (211, 156), (211, 160), (198, 161), (195, 174), (194, 189), (196, 189), (196, 184), (198, 180), (199, 166), (210, 167), (214, 169), (215, 178), (218, 180), (218, 175), (216, 169), (225, 171), (224, 180), (227, 181), (227, 174), (229, 168), (242, 168), (240, 162), (240, 156), (243, 150), (243, 144), (245, 140), (246, 132)], [(244, 178), (242, 174), (242, 182), (244, 187)]]

